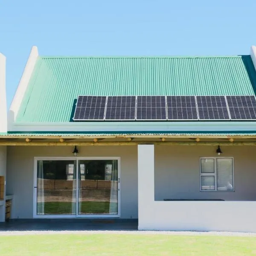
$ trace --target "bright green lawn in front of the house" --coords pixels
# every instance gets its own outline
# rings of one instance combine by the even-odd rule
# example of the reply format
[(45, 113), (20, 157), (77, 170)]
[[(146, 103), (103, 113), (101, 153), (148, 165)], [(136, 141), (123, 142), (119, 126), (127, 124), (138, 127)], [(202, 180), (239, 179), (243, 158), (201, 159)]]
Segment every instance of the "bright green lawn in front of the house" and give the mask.
[(144, 234), (0, 236), (0, 255), (256, 255), (256, 237)]

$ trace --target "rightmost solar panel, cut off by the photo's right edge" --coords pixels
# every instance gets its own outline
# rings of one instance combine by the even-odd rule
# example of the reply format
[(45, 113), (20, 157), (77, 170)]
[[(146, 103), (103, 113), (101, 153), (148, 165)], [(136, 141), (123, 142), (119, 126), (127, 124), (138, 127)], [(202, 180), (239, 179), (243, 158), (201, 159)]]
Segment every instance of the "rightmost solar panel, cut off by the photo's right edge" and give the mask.
[(231, 120), (256, 119), (255, 96), (226, 96)]

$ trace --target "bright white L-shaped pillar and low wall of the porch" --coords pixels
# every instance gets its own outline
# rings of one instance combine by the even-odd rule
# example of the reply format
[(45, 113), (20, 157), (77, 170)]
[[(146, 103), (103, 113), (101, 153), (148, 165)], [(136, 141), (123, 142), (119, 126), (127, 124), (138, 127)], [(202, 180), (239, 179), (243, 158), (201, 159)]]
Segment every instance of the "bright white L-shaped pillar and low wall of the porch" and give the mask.
[(255, 212), (256, 201), (155, 201), (154, 145), (138, 145), (139, 230), (256, 232)]

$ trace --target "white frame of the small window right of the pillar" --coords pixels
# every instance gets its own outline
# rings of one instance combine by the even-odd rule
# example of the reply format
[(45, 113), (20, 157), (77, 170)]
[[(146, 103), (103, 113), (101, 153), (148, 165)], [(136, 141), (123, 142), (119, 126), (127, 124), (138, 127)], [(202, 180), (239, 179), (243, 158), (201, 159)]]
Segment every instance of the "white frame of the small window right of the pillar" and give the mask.
[[(233, 190), (218, 190), (217, 187), (217, 159), (218, 158), (231, 158), (232, 159), (232, 176), (233, 176)], [(201, 159), (213, 159), (214, 160), (214, 172), (202, 172)], [(234, 157), (200, 157), (200, 192), (235, 192), (235, 177), (234, 177)], [(215, 189), (202, 189), (202, 176), (214, 176)]]

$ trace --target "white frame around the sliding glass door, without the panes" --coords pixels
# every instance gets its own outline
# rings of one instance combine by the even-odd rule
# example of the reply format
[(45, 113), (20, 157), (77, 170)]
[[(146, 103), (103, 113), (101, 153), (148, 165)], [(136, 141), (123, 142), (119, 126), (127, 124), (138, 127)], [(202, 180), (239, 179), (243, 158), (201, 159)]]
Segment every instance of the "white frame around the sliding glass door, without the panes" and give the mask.
[[(76, 214), (37, 214), (37, 162), (38, 160), (74, 160), (76, 161)], [(117, 214), (78, 214), (78, 161), (79, 160), (117, 160)], [(120, 218), (121, 216), (121, 157), (34, 157), (34, 182), (33, 182), (33, 218)]]

